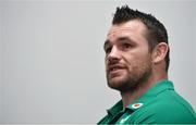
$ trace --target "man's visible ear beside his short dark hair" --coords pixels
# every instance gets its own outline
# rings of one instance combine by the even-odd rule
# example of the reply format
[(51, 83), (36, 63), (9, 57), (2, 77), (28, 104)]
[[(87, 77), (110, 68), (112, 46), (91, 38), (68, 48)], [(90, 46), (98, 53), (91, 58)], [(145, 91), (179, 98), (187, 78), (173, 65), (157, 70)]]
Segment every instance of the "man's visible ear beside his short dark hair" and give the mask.
[(168, 49), (169, 49), (168, 43), (166, 42), (158, 43), (152, 51), (152, 62), (159, 63), (163, 61), (168, 53)]

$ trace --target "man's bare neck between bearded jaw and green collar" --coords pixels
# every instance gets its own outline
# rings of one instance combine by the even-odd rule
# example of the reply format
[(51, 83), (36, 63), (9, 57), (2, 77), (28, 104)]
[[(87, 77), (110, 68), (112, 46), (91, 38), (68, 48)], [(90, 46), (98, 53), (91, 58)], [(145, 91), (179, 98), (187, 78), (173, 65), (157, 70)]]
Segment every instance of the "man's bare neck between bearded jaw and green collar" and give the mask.
[(151, 88), (157, 82), (167, 79), (167, 75), (159, 76), (157, 78), (148, 78), (144, 83), (137, 83), (137, 87), (132, 90), (121, 91), (123, 108), (127, 107), (130, 103), (138, 99), (143, 93), (145, 93), (149, 88)]

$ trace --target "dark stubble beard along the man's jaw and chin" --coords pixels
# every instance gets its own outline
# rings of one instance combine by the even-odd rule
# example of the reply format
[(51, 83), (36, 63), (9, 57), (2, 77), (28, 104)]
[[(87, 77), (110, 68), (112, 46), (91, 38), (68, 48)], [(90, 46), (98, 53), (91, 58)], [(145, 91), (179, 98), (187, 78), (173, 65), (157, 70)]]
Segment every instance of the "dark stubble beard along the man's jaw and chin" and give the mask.
[(112, 80), (109, 78), (109, 75), (107, 75), (108, 86), (112, 89), (119, 90), (121, 92), (130, 91), (130, 90), (136, 90), (151, 75), (151, 63), (145, 63), (143, 65), (136, 65), (132, 68), (132, 72), (127, 70), (127, 73), (124, 74), (124, 76), (120, 80)]

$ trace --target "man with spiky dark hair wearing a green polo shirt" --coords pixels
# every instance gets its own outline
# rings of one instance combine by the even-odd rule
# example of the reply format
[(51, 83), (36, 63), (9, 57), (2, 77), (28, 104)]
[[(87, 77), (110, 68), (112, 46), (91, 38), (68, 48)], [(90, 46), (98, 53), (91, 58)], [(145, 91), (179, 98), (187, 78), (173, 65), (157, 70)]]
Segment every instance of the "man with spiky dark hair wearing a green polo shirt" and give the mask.
[(168, 80), (168, 34), (156, 17), (118, 8), (103, 48), (108, 86), (122, 100), (98, 124), (196, 124), (195, 111)]

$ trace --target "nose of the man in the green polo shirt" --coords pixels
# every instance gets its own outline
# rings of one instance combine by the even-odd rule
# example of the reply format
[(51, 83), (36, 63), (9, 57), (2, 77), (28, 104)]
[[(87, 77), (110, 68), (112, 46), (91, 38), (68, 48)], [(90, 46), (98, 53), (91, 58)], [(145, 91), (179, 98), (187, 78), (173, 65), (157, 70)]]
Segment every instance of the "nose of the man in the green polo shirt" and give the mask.
[(120, 61), (120, 52), (117, 47), (113, 47), (107, 57), (109, 64), (118, 63)]

